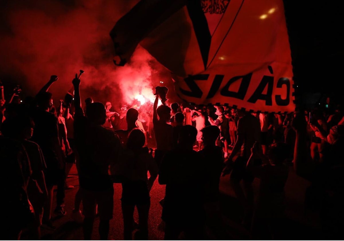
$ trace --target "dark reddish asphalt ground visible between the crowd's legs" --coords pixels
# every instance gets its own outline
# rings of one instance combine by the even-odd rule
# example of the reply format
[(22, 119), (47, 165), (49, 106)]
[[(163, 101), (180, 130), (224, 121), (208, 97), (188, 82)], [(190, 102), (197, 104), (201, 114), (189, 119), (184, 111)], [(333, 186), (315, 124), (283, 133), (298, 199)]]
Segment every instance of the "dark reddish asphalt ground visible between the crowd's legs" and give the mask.
[[(52, 221), (56, 230), (46, 230), (42, 228), (42, 240), (83, 240), (82, 225), (73, 221), (71, 214), (74, 208), (74, 197), (79, 187), (77, 171), (73, 165), (67, 178), (68, 185), (73, 185), (73, 189), (65, 190), (65, 208), (67, 214), (63, 217), (52, 215)], [(290, 167), (289, 177), (286, 184), (286, 222), (283, 240), (319, 240), (321, 230), (319, 217), (316, 213), (305, 209), (304, 195), (309, 183), (295, 175), (292, 166)], [(259, 179), (255, 179), (254, 191), (257, 194)], [(242, 225), (243, 206), (236, 199), (232, 188), (229, 186), (229, 175), (221, 177), (220, 180), (221, 201), (220, 208), (225, 221), (227, 238), (225, 240), (250, 240), (248, 230)], [(123, 219), (121, 212), (121, 184), (114, 184), (114, 212), (113, 219), (110, 220), (109, 240), (123, 240)], [(151, 196), (151, 207), (149, 212), (149, 239), (163, 240), (164, 231), (161, 228), (162, 207), (159, 200), (164, 197), (165, 185), (160, 185), (158, 179), (155, 180)], [(56, 192), (54, 192), (53, 209), (56, 206)], [(82, 208), (82, 205), (80, 209)], [(135, 210), (135, 220), (138, 220)], [(95, 219), (92, 240), (99, 240), (98, 234), (99, 218)], [(133, 232), (134, 233), (134, 232)], [(212, 235), (210, 233), (210, 235)], [(213, 238), (212, 238), (213, 237)], [(22, 235), (25, 239), (25, 232)], [(181, 237), (181, 239), (183, 239)], [(211, 236), (216, 240), (216, 236)]]

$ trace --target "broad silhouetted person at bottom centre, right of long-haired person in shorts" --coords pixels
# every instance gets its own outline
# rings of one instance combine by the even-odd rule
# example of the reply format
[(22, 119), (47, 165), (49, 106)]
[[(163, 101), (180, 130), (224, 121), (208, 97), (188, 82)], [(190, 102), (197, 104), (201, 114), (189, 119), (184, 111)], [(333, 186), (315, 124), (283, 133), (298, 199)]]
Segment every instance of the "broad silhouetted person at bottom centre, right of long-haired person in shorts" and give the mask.
[(165, 240), (177, 240), (184, 231), (186, 239), (202, 240), (204, 230), (204, 157), (193, 150), (197, 129), (183, 126), (178, 148), (166, 153), (159, 170), (159, 184), (166, 184), (162, 219)]

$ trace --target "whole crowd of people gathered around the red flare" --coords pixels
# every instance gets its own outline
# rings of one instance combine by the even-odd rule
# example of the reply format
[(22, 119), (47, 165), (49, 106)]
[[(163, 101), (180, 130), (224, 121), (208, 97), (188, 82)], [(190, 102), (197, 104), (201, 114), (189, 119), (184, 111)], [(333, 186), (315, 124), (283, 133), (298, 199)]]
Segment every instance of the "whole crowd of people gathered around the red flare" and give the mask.
[[(244, 207), (242, 224), (252, 239), (282, 239), (290, 167), (311, 182), (306, 205), (319, 211), (326, 237), (341, 233), (340, 105), (250, 113), (222, 105), (169, 104), (166, 91), (157, 88), (152, 104), (123, 105), (115, 111), (110, 102), (87, 97), (83, 108), (81, 81), (75, 75), (74, 91), (55, 107), (48, 92), (55, 82), (58, 76), (52, 75), (39, 93), (23, 100), (19, 86), (5, 100), (0, 82), (4, 239), (20, 239), (25, 230), (30, 239), (39, 240), (41, 228), (56, 229), (51, 216), (67, 213), (65, 189), (74, 187), (66, 180), (74, 164), (79, 188), (71, 213), (83, 224), (85, 240), (92, 239), (96, 215), (100, 239), (108, 239), (114, 183), (122, 185), (123, 239), (131, 240), (137, 227), (136, 238), (147, 240), (150, 191), (157, 178), (166, 185), (160, 200), (165, 240), (177, 240), (181, 233), (184, 239), (209, 239), (207, 230), (226, 239), (219, 205), (219, 181), (225, 175)], [(255, 178), (260, 179), (257, 198)]]

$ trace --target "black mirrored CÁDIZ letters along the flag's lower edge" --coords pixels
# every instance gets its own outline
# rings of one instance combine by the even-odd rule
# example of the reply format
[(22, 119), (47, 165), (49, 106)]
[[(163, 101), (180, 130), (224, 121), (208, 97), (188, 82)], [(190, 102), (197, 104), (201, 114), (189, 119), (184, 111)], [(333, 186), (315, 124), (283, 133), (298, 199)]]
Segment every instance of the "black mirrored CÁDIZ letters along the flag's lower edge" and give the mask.
[[(179, 90), (182, 94), (186, 96), (201, 98), (203, 95), (203, 91), (201, 90), (200, 87), (198, 87), (195, 81), (207, 81), (208, 77), (209, 77), (209, 74), (189, 75), (188, 77), (184, 78), (184, 81), (191, 91), (186, 91), (186, 90), (183, 90), (182, 88), (179, 88)], [(215, 75), (212, 85), (207, 94), (207, 97), (206, 97), (207, 99), (215, 96), (215, 94), (217, 93), (217, 91), (219, 90), (222, 84), (224, 77), (225, 76), (222, 74)], [(243, 100), (246, 96), (246, 93), (251, 81), (251, 77), (252, 77), (252, 73), (230, 78), (230, 80), (228, 80), (226, 85), (220, 90), (220, 94), (224, 97), (232, 97), (232, 98)], [(238, 91), (237, 92), (229, 91), (230, 85), (240, 79), (241, 79), (241, 83), (240, 83)], [(274, 79), (273, 76), (264, 75), (259, 85), (257, 86), (256, 90), (254, 91), (254, 93), (249, 97), (248, 102), (256, 103), (260, 99), (262, 101), (265, 101), (265, 105), (272, 106), (273, 79)], [(286, 77), (279, 78), (279, 80), (277, 81), (276, 88), (282, 88), (283, 85), (286, 86), (286, 98), (283, 99), (281, 95), (275, 95), (275, 102), (278, 106), (287, 106), (289, 105), (289, 102), (290, 102), (289, 78), (286, 78)], [(265, 90), (266, 86), (267, 86), (267, 93), (263, 94), (263, 91)]]

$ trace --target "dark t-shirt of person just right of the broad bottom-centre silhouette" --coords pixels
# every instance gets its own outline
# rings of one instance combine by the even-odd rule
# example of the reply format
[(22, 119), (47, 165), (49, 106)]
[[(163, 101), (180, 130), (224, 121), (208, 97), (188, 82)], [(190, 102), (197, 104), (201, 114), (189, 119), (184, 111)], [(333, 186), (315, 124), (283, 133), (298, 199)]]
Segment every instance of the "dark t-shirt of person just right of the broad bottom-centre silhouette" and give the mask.
[(224, 166), (222, 147), (206, 146), (198, 151), (205, 157), (207, 175), (205, 177), (205, 200), (217, 201), (219, 199), (220, 176)]

